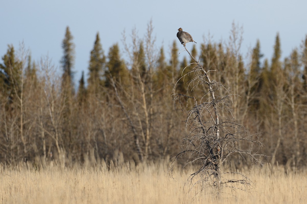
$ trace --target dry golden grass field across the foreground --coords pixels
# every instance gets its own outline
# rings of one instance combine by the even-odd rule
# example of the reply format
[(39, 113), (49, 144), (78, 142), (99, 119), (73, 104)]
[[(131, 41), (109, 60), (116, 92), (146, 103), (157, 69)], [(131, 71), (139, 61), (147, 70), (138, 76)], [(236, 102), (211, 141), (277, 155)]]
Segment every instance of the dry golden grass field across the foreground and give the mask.
[(243, 171), (254, 182), (253, 191), (225, 188), (221, 198), (209, 192), (188, 192), (188, 171), (173, 177), (168, 164), (144, 165), (130, 170), (124, 166), (108, 171), (105, 165), (40, 170), (1, 166), (1, 203), (307, 203), (307, 171), (285, 174), (267, 168)]

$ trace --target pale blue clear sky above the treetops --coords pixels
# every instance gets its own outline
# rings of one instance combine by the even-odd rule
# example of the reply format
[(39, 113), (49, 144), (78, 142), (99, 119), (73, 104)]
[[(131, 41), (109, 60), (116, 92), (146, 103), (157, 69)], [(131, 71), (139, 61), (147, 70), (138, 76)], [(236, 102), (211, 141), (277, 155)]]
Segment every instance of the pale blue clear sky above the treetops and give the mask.
[[(2, 0), (0, 2), (0, 56), (8, 44), (17, 49), (24, 41), (31, 50), (32, 59), (38, 61), (46, 54), (55, 66), (60, 66), (61, 48), (65, 28), (69, 26), (76, 45), (75, 82), (81, 71), (87, 73), (90, 51), (95, 35), (100, 34), (105, 55), (110, 46), (122, 47), (122, 32), (130, 34), (136, 27), (139, 36), (146, 32), (147, 23), (153, 20), (156, 46), (165, 47), (165, 54), (177, 29), (183, 28), (197, 42), (203, 42), (208, 33), (215, 42), (227, 40), (231, 24), (243, 26), (241, 52), (260, 40), (264, 58), (271, 58), (277, 32), (281, 39), (282, 57), (299, 47), (307, 34), (307, 1), (305, 0), (232, 0), (232, 1), (104, 1), (104, 0)], [(194, 43), (188, 43), (187, 48)], [(198, 49), (199, 50), (199, 49)], [(184, 56), (186, 53), (181, 53)], [(2, 59), (0, 59), (2, 62)], [(86, 76), (87, 78), (87, 76)]]

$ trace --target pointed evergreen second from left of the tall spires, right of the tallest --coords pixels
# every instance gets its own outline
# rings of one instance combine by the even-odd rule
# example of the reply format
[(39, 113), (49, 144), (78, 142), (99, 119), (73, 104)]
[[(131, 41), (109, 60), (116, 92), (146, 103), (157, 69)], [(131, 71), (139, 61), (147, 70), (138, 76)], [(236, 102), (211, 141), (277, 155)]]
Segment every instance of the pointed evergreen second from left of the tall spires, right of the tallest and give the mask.
[(91, 57), (89, 63), (89, 78), (87, 80), (89, 91), (94, 93), (99, 92), (99, 87), (103, 85), (103, 75), (105, 71), (106, 57), (103, 54), (102, 45), (100, 43), (99, 33), (96, 35), (93, 50), (91, 50)]

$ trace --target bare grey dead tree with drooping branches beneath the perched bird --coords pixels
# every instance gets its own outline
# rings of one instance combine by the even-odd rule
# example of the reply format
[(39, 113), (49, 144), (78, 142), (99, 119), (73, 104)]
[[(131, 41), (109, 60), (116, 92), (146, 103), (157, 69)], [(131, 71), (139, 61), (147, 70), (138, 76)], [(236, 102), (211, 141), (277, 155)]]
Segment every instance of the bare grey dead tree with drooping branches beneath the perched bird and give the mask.
[[(175, 156), (170, 171), (179, 158), (188, 157), (183, 168), (188, 164), (196, 164), (199, 167), (188, 178), (191, 187), (198, 186), (200, 190), (214, 187), (213, 189), (216, 189), (218, 193), (222, 191), (223, 187), (246, 189), (251, 185), (248, 177), (240, 172), (223, 172), (223, 166), (230, 162), (232, 156), (237, 155), (244, 159), (248, 157), (262, 165), (260, 154), (252, 153), (252, 149), (243, 150), (237, 145), (239, 141), (247, 141), (252, 144), (251, 147), (254, 145), (261, 146), (262, 143), (258, 140), (259, 135), (250, 135), (243, 125), (235, 121), (230, 108), (232, 95), (229, 88), (220, 82), (212, 81), (209, 77), (209, 73), (214, 70), (206, 70), (200, 64), (200, 60), (197, 61), (185, 46), (184, 50), (195, 61), (191, 64), (196, 65), (186, 74), (193, 76), (193, 79), (188, 82), (188, 87), (194, 90), (193, 94), (201, 93), (195, 91), (197, 87), (202, 86), (201, 90), (205, 91), (202, 92), (200, 97), (188, 96), (188, 94), (173, 94), (175, 108), (176, 104), (181, 105), (182, 97), (192, 100), (194, 105), (186, 112), (185, 124), (189, 128), (189, 135), (183, 138), (184, 149)], [(185, 69), (188, 69), (188, 66)], [(223, 93), (226, 93), (226, 95)], [(238, 178), (238, 175), (240, 178)], [(236, 179), (229, 179), (229, 177)]]

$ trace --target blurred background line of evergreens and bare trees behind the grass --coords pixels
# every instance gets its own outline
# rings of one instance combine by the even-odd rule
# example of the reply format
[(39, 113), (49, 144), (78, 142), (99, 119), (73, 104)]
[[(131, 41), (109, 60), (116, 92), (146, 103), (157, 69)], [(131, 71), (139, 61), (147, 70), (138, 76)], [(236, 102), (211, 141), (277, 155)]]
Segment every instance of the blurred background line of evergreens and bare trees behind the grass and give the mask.
[[(225, 86), (236, 123), (261, 133), (264, 146), (255, 151), (268, 155), (272, 166), (301, 168), (307, 164), (307, 35), (284, 59), (277, 34), (271, 59), (262, 59), (257, 40), (243, 60), (241, 31), (233, 24), (227, 42), (205, 39), (191, 55), (212, 81)], [(8, 46), (0, 64), (0, 162), (138, 164), (183, 150), (182, 138), (191, 130), (182, 121), (193, 102), (172, 99), (174, 93), (204, 95), (206, 86), (189, 74), (196, 65), (179, 59), (176, 40), (169, 50), (157, 48), (151, 22), (145, 37), (133, 30), (131, 44), (123, 38), (123, 53), (114, 44), (105, 54), (97, 33), (88, 75), (82, 73), (77, 90), (69, 27), (62, 41), (61, 76), (48, 56), (36, 62), (23, 44), (17, 51)], [(247, 149), (251, 145), (237, 142)], [(242, 164), (240, 157), (232, 158), (234, 165)]]

